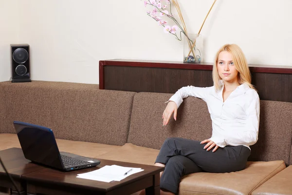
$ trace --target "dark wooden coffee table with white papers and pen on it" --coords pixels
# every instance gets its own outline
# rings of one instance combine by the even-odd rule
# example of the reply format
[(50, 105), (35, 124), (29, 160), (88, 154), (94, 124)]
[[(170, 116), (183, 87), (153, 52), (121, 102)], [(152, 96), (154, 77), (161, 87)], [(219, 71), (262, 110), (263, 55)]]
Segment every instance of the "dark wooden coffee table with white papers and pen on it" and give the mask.
[[(163, 167), (128, 162), (99, 159), (100, 165), (72, 172), (62, 172), (44, 168), (22, 175), (27, 183), (27, 194), (36, 195), (130, 195), (146, 189), (146, 195), (160, 194), (160, 172)], [(77, 174), (87, 173), (105, 165), (142, 168), (144, 171), (110, 183), (77, 178)]]

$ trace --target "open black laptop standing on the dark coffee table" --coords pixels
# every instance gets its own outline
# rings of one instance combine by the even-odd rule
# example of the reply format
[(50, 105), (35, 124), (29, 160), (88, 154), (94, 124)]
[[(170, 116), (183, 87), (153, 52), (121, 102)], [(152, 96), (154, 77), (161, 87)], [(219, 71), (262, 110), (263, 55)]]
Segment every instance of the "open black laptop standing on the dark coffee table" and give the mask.
[(94, 158), (59, 152), (51, 129), (26, 122), (13, 122), (24, 157), (32, 162), (63, 171), (84, 169), (100, 164)]

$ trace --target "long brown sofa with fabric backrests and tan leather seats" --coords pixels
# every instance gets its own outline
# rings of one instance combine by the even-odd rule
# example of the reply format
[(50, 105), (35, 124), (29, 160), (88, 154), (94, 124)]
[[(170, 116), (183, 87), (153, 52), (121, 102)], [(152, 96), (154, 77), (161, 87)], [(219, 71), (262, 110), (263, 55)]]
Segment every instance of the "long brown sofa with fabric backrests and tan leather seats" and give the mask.
[[(177, 121), (162, 126), (171, 95), (99, 90), (95, 84), (0, 82), (0, 150), (20, 147), (13, 127), (20, 120), (51, 128), (60, 151), (153, 165), (165, 138), (211, 136), (207, 105), (199, 98), (186, 98)], [(186, 175), (180, 195), (292, 194), (292, 103), (261, 100), (260, 109), (259, 139), (246, 169)]]

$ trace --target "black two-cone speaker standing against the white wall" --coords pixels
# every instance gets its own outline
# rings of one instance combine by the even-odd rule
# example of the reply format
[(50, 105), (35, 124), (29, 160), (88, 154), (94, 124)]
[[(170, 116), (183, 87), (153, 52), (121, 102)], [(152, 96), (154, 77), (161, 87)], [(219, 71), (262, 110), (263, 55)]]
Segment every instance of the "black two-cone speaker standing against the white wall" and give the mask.
[(11, 82), (31, 82), (28, 44), (11, 44)]

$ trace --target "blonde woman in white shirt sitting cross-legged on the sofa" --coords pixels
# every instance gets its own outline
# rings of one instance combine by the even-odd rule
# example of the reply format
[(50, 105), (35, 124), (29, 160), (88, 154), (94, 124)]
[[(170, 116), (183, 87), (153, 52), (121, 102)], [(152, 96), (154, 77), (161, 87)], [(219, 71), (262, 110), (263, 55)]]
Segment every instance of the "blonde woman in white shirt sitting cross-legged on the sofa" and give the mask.
[[(203, 141), (167, 138), (155, 165), (161, 172), (161, 194), (178, 192), (180, 178), (196, 172), (229, 173), (245, 168), (250, 145), (257, 141), (259, 97), (251, 84), (251, 74), (242, 50), (236, 44), (226, 44), (216, 55), (212, 87), (187, 86), (170, 99), (163, 113), (167, 125), (183, 98), (203, 99), (212, 119), (212, 137)], [(144, 192), (142, 192), (143, 194)]]

